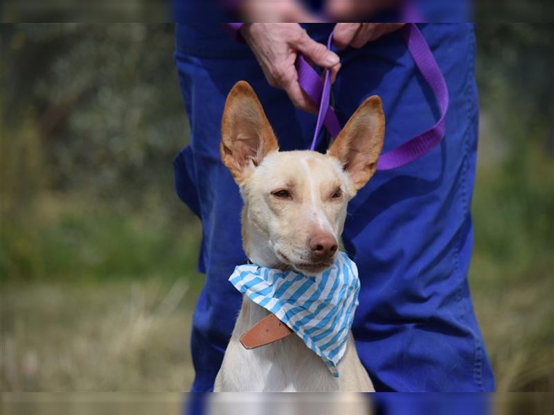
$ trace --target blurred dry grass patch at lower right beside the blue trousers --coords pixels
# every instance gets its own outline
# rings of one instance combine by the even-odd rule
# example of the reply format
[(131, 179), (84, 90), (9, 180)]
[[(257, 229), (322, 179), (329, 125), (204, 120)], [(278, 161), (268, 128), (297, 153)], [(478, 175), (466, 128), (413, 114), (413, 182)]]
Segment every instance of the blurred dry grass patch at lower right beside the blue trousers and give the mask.
[(554, 279), (472, 284), (498, 391), (554, 390)]

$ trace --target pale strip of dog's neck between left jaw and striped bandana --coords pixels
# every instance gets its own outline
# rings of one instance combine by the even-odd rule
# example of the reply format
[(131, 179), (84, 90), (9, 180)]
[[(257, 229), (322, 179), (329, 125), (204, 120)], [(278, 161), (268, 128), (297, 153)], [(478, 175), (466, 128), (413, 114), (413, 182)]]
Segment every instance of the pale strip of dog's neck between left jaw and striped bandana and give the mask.
[(276, 257), (271, 241), (248, 220), (248, 204), (242, 209), (242, 248), (254, 264), (287, 270), (289, 267)]

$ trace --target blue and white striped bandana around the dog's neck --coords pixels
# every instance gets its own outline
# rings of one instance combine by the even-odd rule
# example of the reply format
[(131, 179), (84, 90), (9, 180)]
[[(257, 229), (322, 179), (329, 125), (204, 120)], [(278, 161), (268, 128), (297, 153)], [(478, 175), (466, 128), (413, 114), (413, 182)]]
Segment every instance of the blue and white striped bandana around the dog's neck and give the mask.
[(359, 293), (358, 269), (348, 255), (339, 252), (330, 268), (314, 275), (240, 265), (229, 281), (287, 324), (339, 376)]

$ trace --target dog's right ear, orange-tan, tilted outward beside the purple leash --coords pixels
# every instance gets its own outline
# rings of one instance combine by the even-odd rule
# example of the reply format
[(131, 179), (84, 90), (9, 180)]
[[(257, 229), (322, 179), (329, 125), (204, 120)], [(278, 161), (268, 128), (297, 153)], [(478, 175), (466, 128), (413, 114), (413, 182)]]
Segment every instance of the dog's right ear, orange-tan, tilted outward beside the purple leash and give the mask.
[(328, 154), (340, 160), (355, 190), (364, 187), (375, 173), (384, 133), (381, 98), (373, 95), (362, 102), (331, 145)]

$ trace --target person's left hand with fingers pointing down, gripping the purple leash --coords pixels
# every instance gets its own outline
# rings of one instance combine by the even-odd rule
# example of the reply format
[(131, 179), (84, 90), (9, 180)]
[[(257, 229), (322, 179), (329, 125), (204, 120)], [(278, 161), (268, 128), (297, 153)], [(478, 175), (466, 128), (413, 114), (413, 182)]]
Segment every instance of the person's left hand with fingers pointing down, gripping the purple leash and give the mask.
[(316, 104), (298, 84), (298, 73), (294, 66), (296, 57), (302, 53), (314, 64), (329, 68), (331, 82), (334, 82), (341, 67), (339, 56), (310, 38), (296, 23), (244, 24), (240, 33), (256, 56), (267, 82), (284, 89), (294, 106), (317, 113)]

